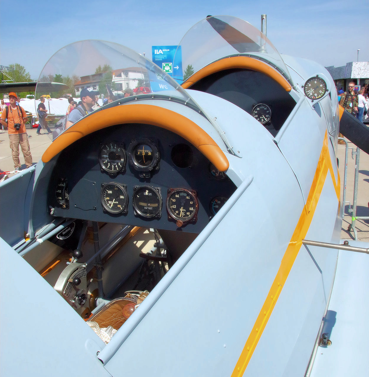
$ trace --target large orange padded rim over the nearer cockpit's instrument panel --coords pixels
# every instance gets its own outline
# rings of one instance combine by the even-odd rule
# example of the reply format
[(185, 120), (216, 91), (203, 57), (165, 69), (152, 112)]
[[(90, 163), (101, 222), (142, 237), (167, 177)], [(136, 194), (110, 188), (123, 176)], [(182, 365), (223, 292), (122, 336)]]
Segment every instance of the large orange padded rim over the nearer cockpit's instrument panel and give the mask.
[(50, 161), (63, 149), (92, 132), (115, 124), (128, 123), (152, 124), (177, 133), (200, 150), (221, 172), (229, 167), (224, 152), (196, 123), (172, 110), (146, 104), (115, 106), (82, 118), (54, 140), (43, 154), (42, 161)]

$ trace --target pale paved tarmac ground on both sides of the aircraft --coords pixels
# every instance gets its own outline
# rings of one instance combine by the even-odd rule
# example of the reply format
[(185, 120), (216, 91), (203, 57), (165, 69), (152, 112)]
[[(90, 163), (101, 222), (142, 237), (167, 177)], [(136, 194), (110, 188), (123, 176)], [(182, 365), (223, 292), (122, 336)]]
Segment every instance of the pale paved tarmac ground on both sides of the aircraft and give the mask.
[[(51, 144), (49, 135), (36, 135), (37, 129), (27, 129), (29, 138), (29, 145), (31, 146), (31, 154), (34, 164), (40, 161), (43, 152)], [(354, 239), (354, 232), (348, 231), (347, 228), (351, 224), (352, 214), (348, 212), (349, 205), (353, 204), (354, 196), (354, 178), (355, 178), (355, 156), (352, 158), (352, 151), (356, 151), (356, 146), (348, 143), (349, 153), (347, 160), (347, 182), (346, 182), (346, 205), (345, 215), (342, 222), (341, 238), (342, 239)], [(345, 146), (338, 145), (338, 160), (339, 160), (339, 172), (341, 179), (341, 199), (343, 192), (344, 182), (344, 159), (345, 159)], [(22, 163), (22, 169), (25, 169), (24, 159), (22, 151), (20, 151), (20, 161)], [(9, 147), (8, 132), (0, 133), (0, 169), (3, 171), (13, 171), (14, 164), (11, 157), (11, 149)], [(359, 175), (358, 175), (358, 195), (357, 195), (357, 216), (369, 216), (369, 155), (362, 152), (360, 153), (359, 163)], [(349, 203), (348, 203), (349, 202)], [(369, 220), (357, 219), (355, 223), (357, 229), (358, 240), (369, 242)]]

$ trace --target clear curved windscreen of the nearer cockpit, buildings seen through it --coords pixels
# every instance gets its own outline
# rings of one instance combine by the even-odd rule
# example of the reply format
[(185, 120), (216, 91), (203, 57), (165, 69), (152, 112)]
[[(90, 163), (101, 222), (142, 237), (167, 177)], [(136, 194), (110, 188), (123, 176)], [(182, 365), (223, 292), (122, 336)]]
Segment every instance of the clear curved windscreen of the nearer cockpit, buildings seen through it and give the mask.
[[(63, 132), (66, 113), (78, 106), (83, 100), (81, 95), (86, 93), (92, 93), (91, 98), (97, 95), (91, 109), (87, 108), (92, 104), (89, 95), (88, 103), (82, 104), (86, 113), (116, 100), (128, 102), (154, 93), (170, 95), (195, 106), (175, 80), (137, 52), (107, 41), (78, 41), (57, 51), (38, 78), (35, 106), (37, 112), (40, 98), (45, 98), (46, 120), (44, 112), (38, 112), (44, 132), (52, 132), (53, 138)], [(68, 118), (75, 119), (75, 112)]]

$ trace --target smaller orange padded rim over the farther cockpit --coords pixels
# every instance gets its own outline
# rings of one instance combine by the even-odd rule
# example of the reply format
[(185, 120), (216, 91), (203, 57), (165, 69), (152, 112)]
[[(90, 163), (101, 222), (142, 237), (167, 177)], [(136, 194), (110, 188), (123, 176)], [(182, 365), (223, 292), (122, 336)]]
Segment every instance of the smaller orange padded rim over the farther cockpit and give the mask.
[(188, 89), (194, 83), (201, 80), (204, 77), (212, 75), (216, 72), (220, 72), (226, 69), (234, 69), (234, 68), (244, 68), (244, 69), (251, 69), (257, 72), (261, 72), (272, 78), (274, 81), (277, 81), (286, 92), (290, 92), (292, 87), (291, 84), (274, 68), (269, 66), (268, 64), (264, 63), (261, 60), (250, 58), (247, 56), (233, 56), (229, 58), (224, 58), (214, 63), (209, 64), (206, 67), (201, 68), (188, 80), (186, 80), (182, 87)]

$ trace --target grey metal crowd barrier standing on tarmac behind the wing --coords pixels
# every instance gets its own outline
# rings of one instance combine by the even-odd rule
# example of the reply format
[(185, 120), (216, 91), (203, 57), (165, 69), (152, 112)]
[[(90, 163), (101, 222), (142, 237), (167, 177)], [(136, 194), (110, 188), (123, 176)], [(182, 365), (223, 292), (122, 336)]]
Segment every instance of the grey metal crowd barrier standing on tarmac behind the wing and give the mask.
[[(346, 203), (349, 204), (348, 212), (351, 214), (351, 224), (347, 228), (348, 231), (354, 231), (354, 239), (357, 240), (357, 230), (355, 228), (355, 222), (357, 219), (369, 220), (369, 216), (356, 216), (356, 207), (357, 207), (357, 190), (358, 190), (358, 181), (359, 181), (359, 164), (360, 164), (360, 148), (350, 148), (351, 157), (354, 159), (355, 156), (355, 179), (354, 179), (354, 197), (352, 199), (352, 205), (349, 201), (346, 202), (346, 182), (347, 182), (347, 159), (348, 159), (348, 150), (349, 146), (347, 141), (344, 138), (338, 138), (338, 140), (344, 141), (346, 146), (345, 161), (344, 161), (344, 176), (343, 176), (343, 197), (342, 197), (342, 207), (345, 208)], [(344, 211), (342, 213), (342, 218), (344, 218)]]

